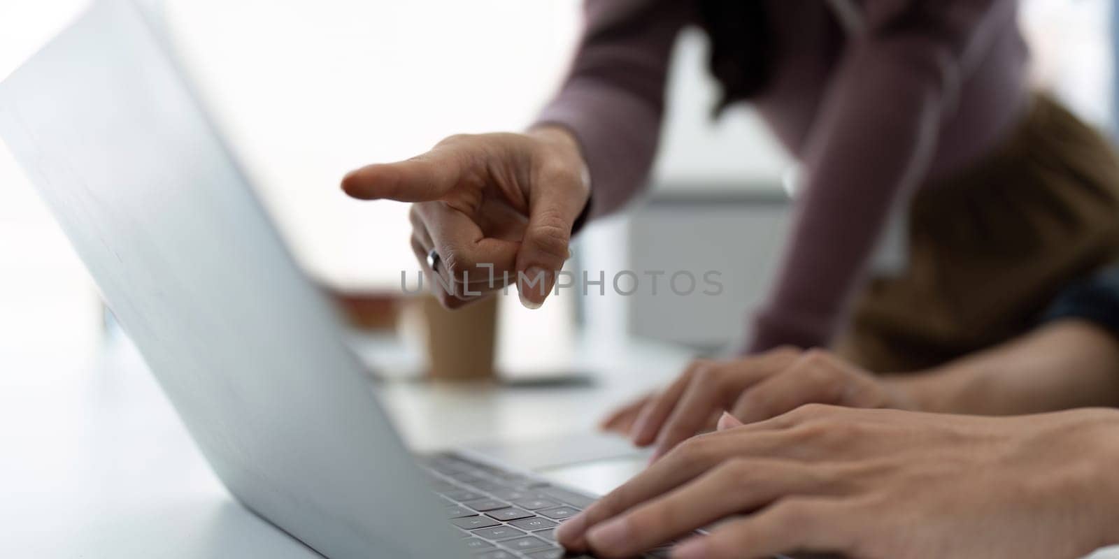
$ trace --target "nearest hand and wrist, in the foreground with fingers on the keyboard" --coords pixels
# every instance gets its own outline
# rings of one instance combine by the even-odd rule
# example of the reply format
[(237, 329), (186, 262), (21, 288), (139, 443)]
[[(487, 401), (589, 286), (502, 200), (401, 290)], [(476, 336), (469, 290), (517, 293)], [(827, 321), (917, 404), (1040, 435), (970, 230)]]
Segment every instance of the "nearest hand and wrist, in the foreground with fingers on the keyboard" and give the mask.
[(561, 524), (558, 541), (621, 558), (685, 538), (678, 559), (1071, 559), (1119, 542), (1119, 411), (812, 405), (735, 425), (678, 445)]

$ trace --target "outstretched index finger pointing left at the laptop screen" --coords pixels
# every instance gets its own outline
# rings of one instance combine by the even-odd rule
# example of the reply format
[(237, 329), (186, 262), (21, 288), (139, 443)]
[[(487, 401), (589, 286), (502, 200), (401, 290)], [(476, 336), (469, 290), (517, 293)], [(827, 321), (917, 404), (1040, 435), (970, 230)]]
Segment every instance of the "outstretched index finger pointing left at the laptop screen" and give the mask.
[(360, 200), (439, 200), (454, 188), (462, 176), (461, 150), (436, 146), (405, 161), (363, 167), (342, 179), (342, 190)]

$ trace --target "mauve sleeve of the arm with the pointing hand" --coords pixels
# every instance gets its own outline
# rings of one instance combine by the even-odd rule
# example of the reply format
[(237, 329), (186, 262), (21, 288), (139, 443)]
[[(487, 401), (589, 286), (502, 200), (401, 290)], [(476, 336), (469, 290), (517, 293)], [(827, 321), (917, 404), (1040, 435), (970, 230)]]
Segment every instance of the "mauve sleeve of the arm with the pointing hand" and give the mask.
[(617, 210), (645, 187), (660, 138), (669, 56), (692, 20), (685, 0), (587, 0), (571, 70), (536, 125), (579, 141), (593, 192), (590, 216)]

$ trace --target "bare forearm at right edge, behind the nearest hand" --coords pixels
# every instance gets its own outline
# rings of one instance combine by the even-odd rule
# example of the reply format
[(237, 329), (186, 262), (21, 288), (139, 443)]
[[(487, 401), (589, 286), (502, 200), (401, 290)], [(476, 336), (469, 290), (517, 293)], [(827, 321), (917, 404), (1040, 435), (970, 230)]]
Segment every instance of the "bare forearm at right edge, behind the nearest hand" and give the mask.
[(1021, 415), (1119, 407), (1119, 340), (1092, 323), (1049, 324), (1003, 345), (886, 382), (916, 409)]

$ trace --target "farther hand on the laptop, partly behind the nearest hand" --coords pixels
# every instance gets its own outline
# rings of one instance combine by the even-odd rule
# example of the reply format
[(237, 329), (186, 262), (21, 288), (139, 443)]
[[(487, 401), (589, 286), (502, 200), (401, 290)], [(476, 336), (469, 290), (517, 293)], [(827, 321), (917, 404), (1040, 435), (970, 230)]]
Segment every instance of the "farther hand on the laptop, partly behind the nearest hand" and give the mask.
[(715, 428), (724, 410), (749, 424), (806, 404), (912, 407), (890, 383), (829, 352), (781, 348), (733, 361), (695, 361), (667, 389), (622, 406), (601, 426), (638, 446), (656, 445), (656, 459)]

